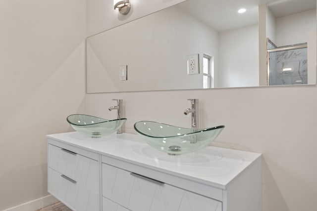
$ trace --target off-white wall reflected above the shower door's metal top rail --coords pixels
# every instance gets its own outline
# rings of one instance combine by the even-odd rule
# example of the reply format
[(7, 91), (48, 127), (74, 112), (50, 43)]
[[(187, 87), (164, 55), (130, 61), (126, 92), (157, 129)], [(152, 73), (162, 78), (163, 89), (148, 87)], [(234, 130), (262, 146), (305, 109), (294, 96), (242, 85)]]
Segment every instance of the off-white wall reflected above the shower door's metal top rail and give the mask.
[(316, 9), (288, 15), (275, 20), (277, 46), (308, 41), (309, 33), (316, 31)]

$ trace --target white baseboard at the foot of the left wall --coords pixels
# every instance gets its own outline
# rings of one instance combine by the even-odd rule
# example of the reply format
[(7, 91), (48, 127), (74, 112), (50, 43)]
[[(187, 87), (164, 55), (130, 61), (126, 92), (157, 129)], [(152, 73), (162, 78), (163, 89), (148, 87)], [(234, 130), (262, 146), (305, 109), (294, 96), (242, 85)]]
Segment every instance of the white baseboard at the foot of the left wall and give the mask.
[(55, 197), (48, 195), (3, 211), (36, 211), (56, 202), (58, 202), (58, 200)]

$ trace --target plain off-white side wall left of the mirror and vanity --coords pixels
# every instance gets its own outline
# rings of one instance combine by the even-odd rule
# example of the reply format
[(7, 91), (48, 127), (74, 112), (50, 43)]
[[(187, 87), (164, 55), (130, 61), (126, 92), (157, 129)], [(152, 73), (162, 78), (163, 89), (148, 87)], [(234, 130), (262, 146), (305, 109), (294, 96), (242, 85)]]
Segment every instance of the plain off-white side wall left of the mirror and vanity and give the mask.
[(85, 0), (0, 1), (0, 210), (49, 195), (46, 134), (85, 95)]

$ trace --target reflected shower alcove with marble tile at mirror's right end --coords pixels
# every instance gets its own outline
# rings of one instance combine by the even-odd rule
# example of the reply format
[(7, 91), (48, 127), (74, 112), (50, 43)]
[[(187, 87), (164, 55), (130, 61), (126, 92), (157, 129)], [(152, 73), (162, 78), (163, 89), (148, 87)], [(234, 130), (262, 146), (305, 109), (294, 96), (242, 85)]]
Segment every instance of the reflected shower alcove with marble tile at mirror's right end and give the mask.
[(315, 0), (267, 4), (268, 85), (316, 83), (315, 8)]

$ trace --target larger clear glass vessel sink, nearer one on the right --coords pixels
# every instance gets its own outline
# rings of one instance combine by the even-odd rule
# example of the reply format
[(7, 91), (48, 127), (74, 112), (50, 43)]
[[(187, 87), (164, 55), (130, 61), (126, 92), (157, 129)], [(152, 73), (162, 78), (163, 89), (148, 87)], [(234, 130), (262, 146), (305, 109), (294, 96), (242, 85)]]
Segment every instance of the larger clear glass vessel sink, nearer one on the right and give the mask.
[(224, 126), (192, 129), (151, 121), (134, 124), (134, 129), (153, 148), (169, 155), (195, 152), (210, 144)]

